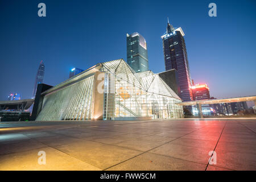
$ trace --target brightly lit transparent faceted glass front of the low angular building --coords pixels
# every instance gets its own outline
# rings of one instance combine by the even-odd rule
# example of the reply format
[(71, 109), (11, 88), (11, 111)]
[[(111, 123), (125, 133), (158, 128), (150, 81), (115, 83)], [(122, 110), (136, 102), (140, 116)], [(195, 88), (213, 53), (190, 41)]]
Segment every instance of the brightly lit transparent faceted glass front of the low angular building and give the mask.
[(104, 119), (182, 117), (182, 106), (175, 104), (180, 98), (158, 74), (134, 73), (125, 61), (118, 62), (105, 63), (101, 70), (105, 72)]

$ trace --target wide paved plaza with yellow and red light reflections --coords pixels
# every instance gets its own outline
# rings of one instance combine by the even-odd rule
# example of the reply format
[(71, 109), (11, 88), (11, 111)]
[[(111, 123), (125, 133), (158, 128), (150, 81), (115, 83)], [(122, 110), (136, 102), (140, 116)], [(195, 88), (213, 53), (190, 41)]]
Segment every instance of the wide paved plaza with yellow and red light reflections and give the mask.
[(0, 122), (0, 170), (255, 170), (255, 132), (255, 118)]

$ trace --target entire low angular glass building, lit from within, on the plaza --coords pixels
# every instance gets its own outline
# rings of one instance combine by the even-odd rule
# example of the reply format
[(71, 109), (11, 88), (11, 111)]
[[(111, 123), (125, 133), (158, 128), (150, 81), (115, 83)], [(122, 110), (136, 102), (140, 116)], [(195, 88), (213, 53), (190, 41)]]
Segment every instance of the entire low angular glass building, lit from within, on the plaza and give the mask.
[(123, 60), (94, 65), (41, 93), (36, 121), (182, 118), (177, 94), (151, 71)]

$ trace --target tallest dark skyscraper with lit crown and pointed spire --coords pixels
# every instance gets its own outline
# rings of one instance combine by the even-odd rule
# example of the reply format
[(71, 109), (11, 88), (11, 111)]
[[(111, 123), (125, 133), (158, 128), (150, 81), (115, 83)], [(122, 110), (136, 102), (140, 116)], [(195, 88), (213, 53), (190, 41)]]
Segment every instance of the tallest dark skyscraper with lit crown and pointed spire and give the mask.
[(161, 36), (163, 40), (164, 63), (166, 71), (176, 69), (179, 87), (180, 98), (183, 101), (193, 100), (191, 90), (191, 76), (189, 72), (187, 49), (183, 38), (184, 32), (179, 28), (174, 28), (168, 20), (166, 34)]

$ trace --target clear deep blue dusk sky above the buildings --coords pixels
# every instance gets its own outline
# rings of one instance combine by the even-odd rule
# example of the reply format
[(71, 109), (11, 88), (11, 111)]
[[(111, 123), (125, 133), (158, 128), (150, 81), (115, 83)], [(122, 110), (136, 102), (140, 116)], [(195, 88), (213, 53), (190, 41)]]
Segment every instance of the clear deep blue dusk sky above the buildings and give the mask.
[[(38, 4), (46, 3), (46, 17)], [(217, 5), (209, 17), (208, 5)], [(191, 77), (217, 98), (256, 95), (256, 1), (0, 1), (0, 100), (31, 98), (39, 63), (44, 83), (67, 80), (73, 67), (126, 60), (126, 33), (147, 42), (148, 64), (163, 72), (167, 17), (181, 27)]]

